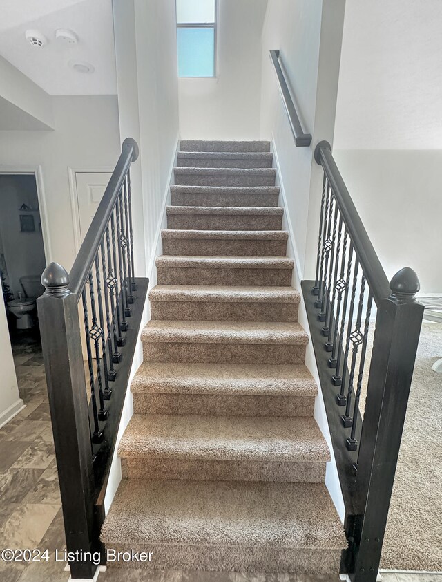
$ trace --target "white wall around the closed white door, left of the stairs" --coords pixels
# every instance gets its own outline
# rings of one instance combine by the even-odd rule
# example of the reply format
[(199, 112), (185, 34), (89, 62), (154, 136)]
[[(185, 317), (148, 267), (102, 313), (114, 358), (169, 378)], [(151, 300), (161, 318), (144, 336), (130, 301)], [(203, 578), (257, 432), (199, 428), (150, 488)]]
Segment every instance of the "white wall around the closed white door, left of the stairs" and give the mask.
[(68, 167), (115, 165), (121, 152), (117, 97), (52, 97), (52, 105), (55, 131), (0, 131), (0, 171), (41, 166), (50, 236), (47, 258), (70, 270), (75, 240)]

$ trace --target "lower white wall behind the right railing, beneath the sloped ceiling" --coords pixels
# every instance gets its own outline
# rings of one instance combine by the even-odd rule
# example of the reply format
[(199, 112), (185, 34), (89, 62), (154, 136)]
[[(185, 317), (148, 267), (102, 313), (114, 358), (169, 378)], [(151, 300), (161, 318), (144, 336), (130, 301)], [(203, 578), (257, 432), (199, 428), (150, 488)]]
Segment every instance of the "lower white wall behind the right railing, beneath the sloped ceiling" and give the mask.
[(442, 293), (442, 151), (342, 151), (334, 158), (388, 279), (412, 267)]

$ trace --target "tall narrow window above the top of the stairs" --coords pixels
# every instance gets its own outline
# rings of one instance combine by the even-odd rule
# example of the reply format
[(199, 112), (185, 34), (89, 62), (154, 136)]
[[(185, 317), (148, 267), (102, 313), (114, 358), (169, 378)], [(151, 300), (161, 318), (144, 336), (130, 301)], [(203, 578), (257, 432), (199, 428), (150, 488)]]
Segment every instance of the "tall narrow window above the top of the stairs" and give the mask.
[(215, 77), (216, 0), (177, 0), (178, 77)]

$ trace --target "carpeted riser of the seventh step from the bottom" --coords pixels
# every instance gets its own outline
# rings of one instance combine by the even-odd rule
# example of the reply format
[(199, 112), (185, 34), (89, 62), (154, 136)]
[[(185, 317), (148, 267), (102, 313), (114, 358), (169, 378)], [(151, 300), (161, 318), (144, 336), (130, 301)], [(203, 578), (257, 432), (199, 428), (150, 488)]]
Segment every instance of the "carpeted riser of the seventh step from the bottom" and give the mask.
[(163, 254), (185, 256), (285, 256), (287, 241), (163, 238)]

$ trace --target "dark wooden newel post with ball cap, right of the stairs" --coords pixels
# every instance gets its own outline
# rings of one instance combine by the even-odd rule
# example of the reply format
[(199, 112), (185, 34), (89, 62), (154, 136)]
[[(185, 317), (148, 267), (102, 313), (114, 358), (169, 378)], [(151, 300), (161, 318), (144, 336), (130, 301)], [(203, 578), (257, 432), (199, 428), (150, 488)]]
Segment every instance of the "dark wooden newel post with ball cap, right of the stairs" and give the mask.
[(390, 290), (378, 303), (356, 472), (354, 582), (374, 582), (378, 573), (423, 318), (412, 269), (399, 271)]

